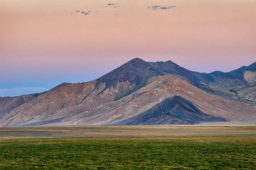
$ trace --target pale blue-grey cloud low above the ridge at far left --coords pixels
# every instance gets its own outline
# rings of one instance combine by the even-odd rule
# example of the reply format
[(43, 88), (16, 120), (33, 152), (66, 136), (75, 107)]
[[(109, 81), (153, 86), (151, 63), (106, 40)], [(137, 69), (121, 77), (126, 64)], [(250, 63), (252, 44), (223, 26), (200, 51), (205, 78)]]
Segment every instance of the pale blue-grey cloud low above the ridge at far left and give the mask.
[(20, 88), (7, 88), (7, 89), (0, 89), (0, 96), (20, 96), (20, 95), (28, 95), (28, 94), (35, 94), (44, 91), (48, 91), (48, 88), (43, 87), (20, 87)]

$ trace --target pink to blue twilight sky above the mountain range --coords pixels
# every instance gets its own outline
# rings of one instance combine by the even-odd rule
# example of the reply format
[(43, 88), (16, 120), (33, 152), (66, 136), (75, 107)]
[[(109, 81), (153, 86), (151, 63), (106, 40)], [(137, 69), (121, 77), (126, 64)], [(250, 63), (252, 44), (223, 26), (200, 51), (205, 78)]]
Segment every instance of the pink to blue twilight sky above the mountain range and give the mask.
[(256, 61), (256, 0), (0, 0), (0, 96), (88, 82), (135, 57), (192, 71)]

